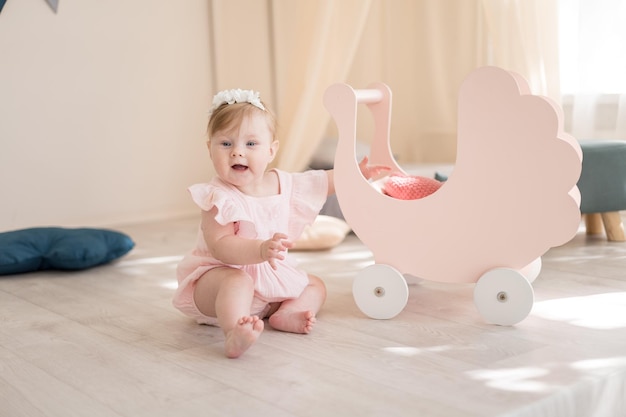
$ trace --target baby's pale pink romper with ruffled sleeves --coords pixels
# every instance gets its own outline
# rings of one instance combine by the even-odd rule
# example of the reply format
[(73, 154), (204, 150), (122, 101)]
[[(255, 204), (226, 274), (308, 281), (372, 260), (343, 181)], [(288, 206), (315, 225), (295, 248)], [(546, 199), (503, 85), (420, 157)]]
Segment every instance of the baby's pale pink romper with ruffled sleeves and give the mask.
[[(218, 213), (215, 220), (225, 225), (235, 224), (235, 233), (249, 239), (266, 240), (274, 233), (286, 233), (295, 241), (311, 224), (328, 195), (328, 177), (325, 171), (278, 174), (280, 194), (268, 197), (251, 197), (215, 177), (210, 183), (189, 187), (193, 201), (205, 211), (213, 206)], [(196, 281), (212, 268), (224, 266), (213, 258), (198, 230), (196, 247), (185, 255), (178, 265), (176, 275), (178, 289), (172, 301), (174, 307), (198, 323), (217, 325), (215, 317), (202, 314), (193, 301)], [(308, 274), (298, 269), (295, 260), (287, 254), (285, 260), (277, 261), (274, 270), (268, 262), (252, 265), (228, 265), (248, 273), (254, 280), (255, 297), (251, 315), (265, 316), (269, 303), (300, 296), (309, 283)]]

